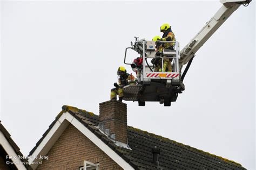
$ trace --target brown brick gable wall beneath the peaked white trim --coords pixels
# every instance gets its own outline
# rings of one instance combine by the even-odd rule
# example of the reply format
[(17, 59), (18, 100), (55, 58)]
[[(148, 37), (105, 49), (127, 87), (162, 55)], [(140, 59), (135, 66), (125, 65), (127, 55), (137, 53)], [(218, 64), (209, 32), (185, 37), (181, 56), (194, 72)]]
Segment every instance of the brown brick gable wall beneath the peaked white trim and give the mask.
[(52, 146), (37, 169), (79, 169), (83, 161), (99, 163), (100, 169), (123, 169), (72, 124)]

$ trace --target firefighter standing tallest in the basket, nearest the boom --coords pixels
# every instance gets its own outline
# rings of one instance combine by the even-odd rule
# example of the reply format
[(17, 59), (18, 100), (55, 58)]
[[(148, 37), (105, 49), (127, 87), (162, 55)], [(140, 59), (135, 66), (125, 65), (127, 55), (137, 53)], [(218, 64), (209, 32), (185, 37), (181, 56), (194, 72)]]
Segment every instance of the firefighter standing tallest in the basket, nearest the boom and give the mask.
[[(164, 34), (163, 34), (162, 38), (160, 40), (157, 40), (157, 41), (176, 41), (175, 35), (172, 32), (172, 28), (169, 24), (166, 23), (166, 24), (161, 25), (160, 32), (163, 32)], [(163, 46), (163, 49), (173, 50), (174, 49), (174, 42), (164, 43), (161, 46)], [(169, 60), (168, 62), (167, 62), (167, 60), (164, 62), (163, 69), (165, 70), (166, 67), (167, 67), (168, 71), (172, 72), (172, 65), (171, 65), (172, 59), (168, 59), (168, 60)], [(159, 69), (159, 72), (161, 72), (161, 69)]]

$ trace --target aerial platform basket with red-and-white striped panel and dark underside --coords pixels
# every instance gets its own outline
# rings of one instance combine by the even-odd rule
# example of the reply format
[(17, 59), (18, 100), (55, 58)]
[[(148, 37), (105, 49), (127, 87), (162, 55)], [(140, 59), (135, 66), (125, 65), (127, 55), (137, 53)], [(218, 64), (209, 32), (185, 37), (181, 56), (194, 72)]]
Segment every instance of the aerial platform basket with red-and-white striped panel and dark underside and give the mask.
[[(124, 87), (124, 100), (138, 101), (139, 105), (145, 105), (145, 102), (160, 102), (165, 106), (170, 106), (175, 102), (178, 93), (184, 90), (180, 87), (179, 72), (179, 42), (178, 41), (160, 41), (160, 43), (174, 43), (174, 49), (164, 49), (162, 52), (156, 51), (156, 42), (139, 40), (135, 41), (132, 47), (125, 50), (124, 63), (126, 63), (127, 49), (133, 49), (140, 54), (143, 59), (142, 65), (134, 69), (137, 75), (137, 84), (130, 84)], [(172, 70), (169, 72), (154, 72), (154, 66), (149, 60), (160, 59), (162, 70), (164, 59), (172, 59)]]

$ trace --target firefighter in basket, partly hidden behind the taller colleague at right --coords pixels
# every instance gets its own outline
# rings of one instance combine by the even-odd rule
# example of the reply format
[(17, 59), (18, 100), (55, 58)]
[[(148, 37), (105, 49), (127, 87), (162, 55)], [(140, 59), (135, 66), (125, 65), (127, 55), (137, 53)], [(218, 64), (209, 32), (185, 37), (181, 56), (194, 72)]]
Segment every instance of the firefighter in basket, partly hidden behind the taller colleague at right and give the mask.
[[(152, 38), (152, 41), (160, 41), (161, 37), (155, 36)], [(156, 51), (162, 52), (163, 51), (163, 44), (156, 43)], [(154, 58), (151, 60), (152, 64), (156, 66), (154, 68), (154, 72), (162, 72), (162, 61), (160, 58)], [(166, 69), (167, 68), (167, 69)], [(172, 72), (172, 67), (171, 67), (171, 61), (169, 58), (164, 57), (164, 70), (163, 72)]]

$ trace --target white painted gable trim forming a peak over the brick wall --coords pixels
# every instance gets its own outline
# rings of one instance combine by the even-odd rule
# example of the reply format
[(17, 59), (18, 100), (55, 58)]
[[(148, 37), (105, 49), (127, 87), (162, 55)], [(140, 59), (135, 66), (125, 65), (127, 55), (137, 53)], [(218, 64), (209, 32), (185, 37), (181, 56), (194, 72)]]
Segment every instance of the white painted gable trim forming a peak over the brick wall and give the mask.
[(103, 152), (105, 152), (113, 161), (115, 161), (120, 167), (123, 169), (134, 169), (131, 165), (129, 165), (123, 158), (121, 158), (116, 152), (114, 152), (109, 146), (107, 146), (102, 140), (100, 140), (95, 134), (93, 134), (89, 129), (87, 129), (82, 123), (77, 121), (69, 112), (64, 112), (62, 116), (58, 119), (58, 121), (53, 125), (51, 130), (46, 134), (42, 142), (37, 146), (36, 150), (32, 153), (29, 164), (35, 169), (38, 165), (32, 164), (34, 161), (41, 161), (38, 159), (39, 155), (46, 155), (50, 148), (55, 144), (56, 140), (63, 133), (66, 127), (71, 123), (75, 126), (80, 132), (84, 134), (87, 138), (89, 138), (92, 143), (100, 148)]

